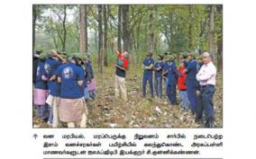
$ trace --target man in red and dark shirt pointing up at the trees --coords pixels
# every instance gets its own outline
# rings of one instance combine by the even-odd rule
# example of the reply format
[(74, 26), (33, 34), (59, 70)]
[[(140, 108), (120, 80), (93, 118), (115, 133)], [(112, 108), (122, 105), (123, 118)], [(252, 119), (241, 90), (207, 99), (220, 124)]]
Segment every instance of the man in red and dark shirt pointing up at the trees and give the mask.
[[(117, 62), (114, 65), (115, 66), (115, 89), (114, 89), (114, 95), (115, 95), (115, 99), (119, 99), (120, 97), (123, 99), (123, 102), (127, 102), (128, 98), (127, 98), (127, 89), (126, 89), (126, 84), (125, 84), (125, 72), (126, 69), (128, 68), (128, 64), (129, 64), (129, 53), (128, 51), (124, 51), (124, 52), (120, 52), (116, 45), (114, 44), (114, 51), (117, 55)], [(118, 61), (122, 61), (123, 65), (120, 66)]]

